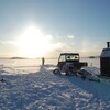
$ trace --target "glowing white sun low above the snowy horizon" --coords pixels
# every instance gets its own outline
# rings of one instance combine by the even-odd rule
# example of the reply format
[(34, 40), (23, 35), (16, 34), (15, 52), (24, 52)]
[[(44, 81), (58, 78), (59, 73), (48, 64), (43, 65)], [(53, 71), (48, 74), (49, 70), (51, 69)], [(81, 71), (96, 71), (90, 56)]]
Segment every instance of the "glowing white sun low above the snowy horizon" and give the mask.
[(50, 41), (36, 26), (28, 28), (18, 40), (20, 56), (42, 57), (50, 50)]

